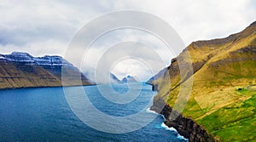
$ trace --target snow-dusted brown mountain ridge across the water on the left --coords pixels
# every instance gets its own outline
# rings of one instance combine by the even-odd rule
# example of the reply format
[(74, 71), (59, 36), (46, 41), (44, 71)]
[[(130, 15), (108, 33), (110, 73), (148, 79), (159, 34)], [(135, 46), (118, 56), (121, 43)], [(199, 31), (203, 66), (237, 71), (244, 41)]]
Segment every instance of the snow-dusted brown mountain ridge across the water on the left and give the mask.
[(93, 83), (61, 56), (36, 58), (20, 52), (0, 54), (0, 88), (57, 87), (79, 84)]

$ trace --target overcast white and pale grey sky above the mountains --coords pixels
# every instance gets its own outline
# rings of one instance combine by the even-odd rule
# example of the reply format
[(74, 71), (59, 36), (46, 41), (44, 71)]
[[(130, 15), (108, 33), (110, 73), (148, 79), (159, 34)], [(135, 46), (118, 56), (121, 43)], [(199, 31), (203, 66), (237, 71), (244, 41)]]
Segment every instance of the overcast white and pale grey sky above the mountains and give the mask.
[[(33, 56), (64, 57), (69, 43), (84, 25), (103, 14), (127, 9), (154, 14), (165, 20), (177, 31), (185, 46), (193, 41), (227, 37), (256, 20), (254, 0), (0, 0), (0, 54), (20, 51)], [(113, 63), (111, 71), (119, 79), (132, 75), (146, 81), (177, 55), (167, 52), (166, 45), (152, 34), (123, 29), (99, 38), (87, 56), (81, 57), (83, 63), (73, 64), (94, 80), (96, 67), (106, 48), (126, 41), (144, 43), (160, 59), (154, 56), (141, 58), (143, 53), (148, 54), (148, 48), (140, 48), (138, 53), (141, 55), (133, 54), (137, 50), (132, 53), (127, 48), (113, 51), (111, 57), (119, 52), (135, 57), (128, 56)]]

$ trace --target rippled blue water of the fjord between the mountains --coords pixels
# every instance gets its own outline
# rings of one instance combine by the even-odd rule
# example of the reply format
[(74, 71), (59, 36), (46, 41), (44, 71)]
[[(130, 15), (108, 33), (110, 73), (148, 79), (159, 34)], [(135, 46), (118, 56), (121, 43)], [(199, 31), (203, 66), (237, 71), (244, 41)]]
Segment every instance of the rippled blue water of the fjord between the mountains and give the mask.
[[(136, 84), (134, 84), (137, 86)], [(106, 87), (105, 87), (106, 86)], [(125, 94), (125, 84), (112, 84), (113, 90)], [(99, 89), (99, 87), (101, 89)], [(77, 94), (80, 87), (65, 88)], [(164, 118), (146, 106), (153, 99), (151, 86), (142, 89), (130, 87), (130, 93), (139, 93), (130, 103), (113, 103), (101, 94), (109, 94), (107, 85), (86, 86), (84, 92), (97, 110), (109, 116), (131, 116), (141, 111), (145, 117), (132, 120), (135, 124), (147, 122), (143, 128), (129, 133), (106, 133), (84, 124), (67, 103), (63, 88), (19, 88), (0, 90), (0, 141), (187, 141), (173, 128), (164, 125)], [(111, 92), (110, 92), (111, 94)], [(86, 110), (83, 110), (86, 113)], [(95, 114), (97, 115), (97, 114)], [(99, 118), (104, 120), (104, 118)], [(98, 122), (105, 127), (106, 122)], [(114, 123), (114, 122), (113, 122)], [(114, 127), (124, 127), (122, 122)], [(130, 127), (129, 124), (125, 127)], [(132, 126), (131, 126), (132, 127)]]

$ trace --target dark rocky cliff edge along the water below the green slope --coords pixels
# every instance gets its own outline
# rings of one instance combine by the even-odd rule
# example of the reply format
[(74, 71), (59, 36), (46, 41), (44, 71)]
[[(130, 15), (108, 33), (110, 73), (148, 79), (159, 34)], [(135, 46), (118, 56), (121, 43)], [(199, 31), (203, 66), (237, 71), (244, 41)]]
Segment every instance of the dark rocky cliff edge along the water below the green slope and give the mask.
[[(189, 117), (184, 117), (177, 111), (172, 112), (172, 107), (164, 105), (163, 103), (166, 104), (162, 99), (154, 101), (154, 105), (151, 106), (150, 110), (165, 116), (166, 121), (164, 123), (167, 127), (175, 128), (184, 138), (189, 139), (189, 142), (217, 141), (212, 134), (207, 133), (207, 130), (202, 128), (201, 125), (198, 125)], [(172, 119), (173, 117), (175, 119)]]

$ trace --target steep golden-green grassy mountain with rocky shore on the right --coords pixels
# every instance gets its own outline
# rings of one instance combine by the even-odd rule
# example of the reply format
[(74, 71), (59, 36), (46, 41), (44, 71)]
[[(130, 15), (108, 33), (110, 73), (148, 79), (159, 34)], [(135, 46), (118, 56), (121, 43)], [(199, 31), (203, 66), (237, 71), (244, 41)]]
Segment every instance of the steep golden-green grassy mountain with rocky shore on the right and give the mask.
[[(179, 67), (189, 62), (193, 72), (185, 70), (181, 78)], [(188, 102), (185, 96), (177, 100), (192, 80)], [(256, 139), (256, 21), (229, 37), (189, 44), (148, 83), (158, 86), (151, 110), (166, 116), (166, 125), (189, 141)], [(182, 103), (182, 114), (171, 120), (171, 111)]]

